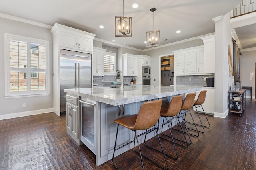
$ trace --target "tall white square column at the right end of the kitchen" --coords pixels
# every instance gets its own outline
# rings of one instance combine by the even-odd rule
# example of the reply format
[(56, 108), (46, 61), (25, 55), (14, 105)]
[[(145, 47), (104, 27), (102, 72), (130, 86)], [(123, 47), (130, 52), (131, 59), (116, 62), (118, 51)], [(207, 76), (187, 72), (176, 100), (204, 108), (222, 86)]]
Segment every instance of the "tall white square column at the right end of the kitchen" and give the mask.
[(214, 117), (228, 115), (228, 45), (232, 46), (230, 14), (212, 19), (215, 22), (215, 107)]

